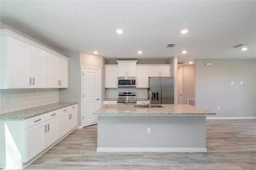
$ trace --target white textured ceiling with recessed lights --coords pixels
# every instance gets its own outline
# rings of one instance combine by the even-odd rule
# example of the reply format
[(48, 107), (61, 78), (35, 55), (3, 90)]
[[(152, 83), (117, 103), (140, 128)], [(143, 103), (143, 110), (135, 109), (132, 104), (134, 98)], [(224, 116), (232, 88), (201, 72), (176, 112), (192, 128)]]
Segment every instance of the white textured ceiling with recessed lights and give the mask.
[[(178, 56), (180, 62), (256, 58), (254, 0), (1, 0), (0, 10), (2, 23), (58, 51), (98, 51), (106, 59)], [(124, 33), (116, 34), (117, 28)], [(186, 35), (179, 33), (184, 28), (189, 29)], [(177, 44), (167, 48), (168, 43)], [(248, 50), (232, 47), (238, 43)]]

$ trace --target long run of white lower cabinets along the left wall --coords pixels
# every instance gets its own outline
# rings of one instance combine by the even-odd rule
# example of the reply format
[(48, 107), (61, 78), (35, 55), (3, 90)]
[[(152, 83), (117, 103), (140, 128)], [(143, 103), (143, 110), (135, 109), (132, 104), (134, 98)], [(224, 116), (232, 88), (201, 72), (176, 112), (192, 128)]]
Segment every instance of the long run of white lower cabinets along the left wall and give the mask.
[(29, 119), (0, 119), (0, 168), (23, 169), (77, 126), (77, 104)]

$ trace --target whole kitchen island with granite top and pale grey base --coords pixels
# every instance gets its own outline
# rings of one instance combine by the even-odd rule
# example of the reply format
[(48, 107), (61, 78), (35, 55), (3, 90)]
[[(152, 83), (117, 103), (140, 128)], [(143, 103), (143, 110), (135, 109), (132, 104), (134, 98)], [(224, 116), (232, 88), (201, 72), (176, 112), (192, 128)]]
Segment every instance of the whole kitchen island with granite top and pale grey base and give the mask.
[(206, 115), (191, 105), (103, 105), (97, 152), (207, 152)]

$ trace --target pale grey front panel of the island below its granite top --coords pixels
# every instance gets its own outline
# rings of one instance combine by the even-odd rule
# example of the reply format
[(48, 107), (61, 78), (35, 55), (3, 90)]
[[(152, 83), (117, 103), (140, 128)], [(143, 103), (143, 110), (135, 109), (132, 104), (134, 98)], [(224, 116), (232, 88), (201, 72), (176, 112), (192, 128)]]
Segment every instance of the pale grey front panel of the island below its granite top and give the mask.
[[(151, 128), (150, 134), (147, 128)], [(125, 148), (181, 148), (177, 152), (201, 148), (200, 152), (206, 152), (206, 115), (98, 116), (97, 152), (105, 152), (104, 148), (106, 152), (111, 148), (120, 148), (120, 152), (126, 152)]]

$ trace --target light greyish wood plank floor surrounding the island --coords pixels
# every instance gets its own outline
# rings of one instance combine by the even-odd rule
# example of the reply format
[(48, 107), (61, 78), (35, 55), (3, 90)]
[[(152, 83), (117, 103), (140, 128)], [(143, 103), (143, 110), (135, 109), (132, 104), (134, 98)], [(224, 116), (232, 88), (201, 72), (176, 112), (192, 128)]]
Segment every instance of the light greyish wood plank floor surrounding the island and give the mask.
[(255, 170), (256, 120), (207, 120), (207, 153), (96, 153), (97, 125), (76, 129), (26, 170)]

